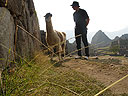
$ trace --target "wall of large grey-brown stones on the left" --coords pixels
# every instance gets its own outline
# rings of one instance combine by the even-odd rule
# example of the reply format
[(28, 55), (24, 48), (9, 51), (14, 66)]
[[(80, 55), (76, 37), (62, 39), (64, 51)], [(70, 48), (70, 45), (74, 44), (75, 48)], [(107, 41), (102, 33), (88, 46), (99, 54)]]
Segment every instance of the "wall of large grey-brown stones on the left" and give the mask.
[[(40, 43), (32, 37), (40, 40), (39, 23), (33, 0), (7, 0), (7, 4), (5, 1), (0, 0), (0, 58), (5, 59), (0, 59), (0, 67), (6, 64), (9, 55), (10, 60), (19, 56), (31, 58), (35, 51), (40, 50)], [(9, 49), (18, 55), (14, 56), (14, 52), (8, 53)]]

